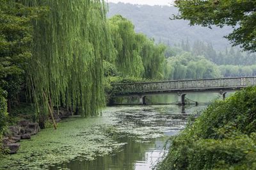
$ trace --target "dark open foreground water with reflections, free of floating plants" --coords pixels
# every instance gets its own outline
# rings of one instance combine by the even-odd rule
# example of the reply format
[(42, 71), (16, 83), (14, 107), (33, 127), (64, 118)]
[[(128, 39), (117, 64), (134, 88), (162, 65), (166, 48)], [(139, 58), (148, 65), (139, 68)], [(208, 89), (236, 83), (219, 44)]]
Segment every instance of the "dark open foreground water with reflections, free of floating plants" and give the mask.
[(150, 143), (137, 143), (125, 137), (120, 140), (127, 142), (127, 144), (114, 155), (107, 155), (105, 157), (97, 157), (92, 161), (74, 160), (68, 164), (63, 164), (59, 167), (51, 167), (51, 169), (127, 169), (127, 170), (146, 170), (156, 163), (157, 159), (164, 153), (163, 144), (166, 137), (152, 139)]

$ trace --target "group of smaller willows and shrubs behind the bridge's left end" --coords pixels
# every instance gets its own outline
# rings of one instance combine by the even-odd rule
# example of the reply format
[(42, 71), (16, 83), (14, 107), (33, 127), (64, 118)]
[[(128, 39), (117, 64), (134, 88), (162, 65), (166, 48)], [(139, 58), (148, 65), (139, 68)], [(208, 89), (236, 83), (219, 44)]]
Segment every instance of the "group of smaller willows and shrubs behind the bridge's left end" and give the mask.
[(111, 84), (163, 79), (166, 45), (135, 33), (132, 22), (121, 15), (111, 17), (108, 24), (114, 49), (103, 61), (104, 88), (106, 102), (112, 104), (116, 91)]

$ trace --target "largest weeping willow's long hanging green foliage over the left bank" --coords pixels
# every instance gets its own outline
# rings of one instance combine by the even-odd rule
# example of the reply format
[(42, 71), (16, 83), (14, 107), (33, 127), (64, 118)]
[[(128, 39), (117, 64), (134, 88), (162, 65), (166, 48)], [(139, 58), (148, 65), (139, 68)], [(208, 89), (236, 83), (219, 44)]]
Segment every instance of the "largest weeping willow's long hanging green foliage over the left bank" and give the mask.
[(42, 107), (46, 114), (51, 100), (54, 107), (81, 107), (82, 116), (97, 115), (104, 107), (102, 59), (113, 55), (104, 1), (23, 2), (49, 7), (47, 19), (33, 23), (28, 66), (28, 88), (38, 111)]

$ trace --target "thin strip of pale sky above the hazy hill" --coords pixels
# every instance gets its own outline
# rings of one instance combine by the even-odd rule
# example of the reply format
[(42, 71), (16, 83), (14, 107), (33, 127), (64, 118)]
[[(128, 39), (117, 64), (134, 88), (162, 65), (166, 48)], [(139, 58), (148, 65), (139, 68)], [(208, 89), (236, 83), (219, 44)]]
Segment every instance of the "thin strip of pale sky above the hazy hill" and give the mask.
[(106, 0), (109, 3), (131, 3), (131, 4), (149, 4), (149, 5), (170, 5), (172, 0)]

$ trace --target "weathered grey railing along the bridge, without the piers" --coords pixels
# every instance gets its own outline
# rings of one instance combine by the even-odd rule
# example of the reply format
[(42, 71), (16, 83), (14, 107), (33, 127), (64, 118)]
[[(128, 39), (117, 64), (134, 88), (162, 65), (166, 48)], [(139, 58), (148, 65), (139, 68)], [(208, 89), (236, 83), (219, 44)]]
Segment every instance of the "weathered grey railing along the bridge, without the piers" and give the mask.
[(164, 91), (177, 89), (202, 89), (202, 88), (241, 88), (255, 86), (256, 77), (230, 77), (221, 79), (198, 79), (198, 80), (178, 80), (161, 82), (134, 82), (113, 84), (115, 91), (120, 94)]

